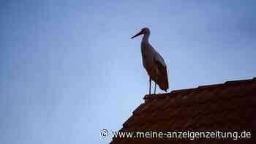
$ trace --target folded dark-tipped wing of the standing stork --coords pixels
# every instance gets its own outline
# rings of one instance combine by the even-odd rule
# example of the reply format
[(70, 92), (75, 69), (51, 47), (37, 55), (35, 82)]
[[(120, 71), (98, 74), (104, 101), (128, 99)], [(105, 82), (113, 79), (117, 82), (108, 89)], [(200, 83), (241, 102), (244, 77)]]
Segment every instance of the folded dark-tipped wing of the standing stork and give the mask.
[(169, 83), (165, 60), (159, 53), (156, 53), (154, 55), (154, 63), (157, 65), (157, 68), (159, 69), (159, 75), (157, 75), (156, 83), (158, 84), (159, 88), (167, 91), (167, 89), (169, 88)]

